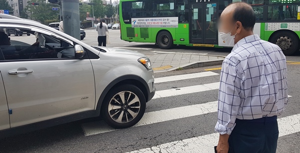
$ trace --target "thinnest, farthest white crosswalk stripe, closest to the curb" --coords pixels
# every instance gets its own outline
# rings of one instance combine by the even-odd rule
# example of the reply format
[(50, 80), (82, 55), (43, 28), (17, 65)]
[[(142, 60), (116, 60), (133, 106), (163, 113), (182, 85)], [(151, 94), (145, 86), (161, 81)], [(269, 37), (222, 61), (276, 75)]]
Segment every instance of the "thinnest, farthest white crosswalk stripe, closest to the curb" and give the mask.
[(191, 74), (183, 74), (183, 75), (174, 75), (168, 77), (155, 78), (154, 83), (200, 78), (200, 77), (207, 77), (212, 75), (219, 75), (219, 74), (211, 71), (207, 71), (207, 72), (199, 72), (199, 73), (191, 73)]

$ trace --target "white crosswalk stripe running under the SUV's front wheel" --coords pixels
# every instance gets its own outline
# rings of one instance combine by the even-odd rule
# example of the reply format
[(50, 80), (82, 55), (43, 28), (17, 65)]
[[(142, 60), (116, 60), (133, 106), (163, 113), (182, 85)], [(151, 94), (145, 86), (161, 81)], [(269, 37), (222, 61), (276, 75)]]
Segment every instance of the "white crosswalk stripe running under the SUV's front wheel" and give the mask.
[[(175, 119), (182, 119), (202, 114), (213, 113), (217, 111), (217, 101), (208, 102), (204, 104), (189, 105), (183, 107), (176, 107), (166, 110), (154, 111), (145, 113), (142, 119), (133, 127), (139, 127), (159, 122), (165, 122)], [(102, 121), (84, 123), (81, 125), (84, 135), (96, 135), (101, 133), (106, 133), (110, 131), (115, 131), (108, 125), (104, 124)]]

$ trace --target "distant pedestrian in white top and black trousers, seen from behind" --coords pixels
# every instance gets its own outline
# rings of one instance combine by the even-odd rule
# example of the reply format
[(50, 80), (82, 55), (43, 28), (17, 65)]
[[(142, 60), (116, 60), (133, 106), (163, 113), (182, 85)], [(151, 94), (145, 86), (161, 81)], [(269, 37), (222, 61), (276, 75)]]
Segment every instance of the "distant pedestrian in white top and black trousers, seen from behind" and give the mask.
[(108, 28), (104, 18), (100, 19), (100, 23), (96, 26), (96, 31), (98, 32), (98, 46), (106, 46), (106, 32), (108, 32)]

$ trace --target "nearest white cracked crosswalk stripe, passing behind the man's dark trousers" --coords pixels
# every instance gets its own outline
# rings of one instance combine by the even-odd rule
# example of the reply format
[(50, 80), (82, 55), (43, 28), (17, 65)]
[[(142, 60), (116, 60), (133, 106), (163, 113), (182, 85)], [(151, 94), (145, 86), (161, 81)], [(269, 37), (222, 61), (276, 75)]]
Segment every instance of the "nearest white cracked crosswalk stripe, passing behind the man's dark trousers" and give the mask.
[[(300, 114), (279, 118), (277, 121), (279, 137), (300, 132)], [(218, 133), (213, 133), (127, 153), (213, 153), (218, 136)]]

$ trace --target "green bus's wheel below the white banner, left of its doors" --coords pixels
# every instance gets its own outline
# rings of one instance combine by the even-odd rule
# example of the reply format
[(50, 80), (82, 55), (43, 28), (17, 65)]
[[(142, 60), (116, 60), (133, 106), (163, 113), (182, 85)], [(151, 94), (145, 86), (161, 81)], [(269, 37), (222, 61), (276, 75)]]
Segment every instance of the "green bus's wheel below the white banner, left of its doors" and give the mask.
[(156, 43), (161, 49), (170, 49), (173, 46), (173, 38), (167, 31), (161, 31), (156, 37)]

